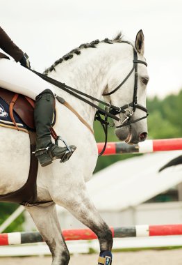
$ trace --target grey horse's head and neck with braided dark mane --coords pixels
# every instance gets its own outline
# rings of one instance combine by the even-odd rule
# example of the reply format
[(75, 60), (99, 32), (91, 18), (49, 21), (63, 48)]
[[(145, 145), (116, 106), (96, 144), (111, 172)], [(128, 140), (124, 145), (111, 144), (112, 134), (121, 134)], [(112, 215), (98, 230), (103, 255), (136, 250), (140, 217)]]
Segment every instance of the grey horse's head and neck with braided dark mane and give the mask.
[[(72, 61), (67, 63), (69, 59)], [(78, 67), (75, 67), (76, 63)], [(124, 40), (119, 33), (113, 40), (106, 38), (80, 45), (53, 63), (44, 74), (62, 80), (92, 99), (104, 96), (106, 103), (110, 104), (110, 114), (116, 117), (115, 134), (120, 140), (137, 144), (147, 138), (146, 86), (149, 75), (142, 30), (137, 33), (135, 42)], [(79, 109), (77, 99), (70, 100), (92, 124), (96, 109), (85, 104)]]

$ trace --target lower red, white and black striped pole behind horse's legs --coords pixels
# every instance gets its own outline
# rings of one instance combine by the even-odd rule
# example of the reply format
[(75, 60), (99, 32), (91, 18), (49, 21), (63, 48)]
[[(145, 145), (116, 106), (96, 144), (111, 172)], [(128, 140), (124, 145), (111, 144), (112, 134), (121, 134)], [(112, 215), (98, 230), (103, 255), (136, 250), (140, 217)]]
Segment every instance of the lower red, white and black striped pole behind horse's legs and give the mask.
[[(140, 236), (176, 236), (182, 235), (182, 225), (135, 225), (133, 227), (110, 227), (114, 238)], [(63, 230), (66, 241), (97, 239), (90, 229)], [(0, 245), (18, 245), (24, 243), (43, 242), (38, 232), (0, 234)]]

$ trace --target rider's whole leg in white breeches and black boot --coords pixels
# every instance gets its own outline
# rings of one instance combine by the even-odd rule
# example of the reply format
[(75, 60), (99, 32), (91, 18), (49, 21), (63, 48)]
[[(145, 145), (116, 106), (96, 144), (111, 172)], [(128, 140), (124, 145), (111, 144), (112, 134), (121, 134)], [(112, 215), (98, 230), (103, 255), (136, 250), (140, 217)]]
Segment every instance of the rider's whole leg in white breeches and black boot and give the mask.
[[(63, 158), (68, 149), (51, 144), (50, 128), (55, 107), (51, 85), (14, 61), (0, 59), (0, 86), (35, 100), (37, 151), (44, 149), (36, 152), (41, 165), (49, 165), (53, 159)], [(72, 151), (76, 149), (75, 146), (69, 147)], [(72, 151), (67, 157), (72, 154)]]

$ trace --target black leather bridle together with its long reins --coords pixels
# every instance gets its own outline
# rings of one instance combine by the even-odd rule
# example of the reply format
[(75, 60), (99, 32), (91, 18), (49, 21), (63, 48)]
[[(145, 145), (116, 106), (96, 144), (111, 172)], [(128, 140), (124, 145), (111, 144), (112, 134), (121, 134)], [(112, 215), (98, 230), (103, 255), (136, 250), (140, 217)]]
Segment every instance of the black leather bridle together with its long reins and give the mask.
[[(133, 45), (127, 41), (122, 41), (121, 43), (128, 43), (129, 45), (131, 45), (133, 47)], [(72, 88), (71, 86), (67, 86), (67, 84), (64, 84), (62, 82), (59, 82), (56, 79), (53, 79), (51, 77), (48, 77), (47, 75), (44, 75), (42, 73), (38, 73), (35, 70), (31, 70), (33, 73), (35, 73), (36, 75), (39, 75), (40, 77), (42, 77), (42, 79), (46, 80), (47, 82), (53, 84), (54, 86), (58, 86), (58, 88), (63, 89), (64, 91), (66, 91), (67, 93), (71, 94), (72, 96), (78, 98), (79, 100), (82, 100), (83, 102), (87, 103), (88, 105), (94, 107), (95, 109), (97, 109), (97, 112), (94, 116), (94, 120), (98, 120), (101, 123), (101, 126), (104, 128), (104, 132), (105, 132), (105, 144), (104, 144), (104, 148), (101, 151), (101, 153), (99, 153), (99, 156), (101, 156), (105, 149), (106, 149), (106, 144), (107, 144), (107, 135), (108, 135), (108, 126), (110, 126), (110, 123), (108, 122), (108, 117), (114, 119), (115, 121), (119, 121), (120, 123), (122, 123), (120, 126), (116, 126), (116, 128), (121, 128), (124, 126), (128, 126), (131, 125), (132, 123), (136, 123), (137, 121), (140, 121), (142, 119), (147, 118), (148, 116), (148, 112), (147, 112), (147, 108), (143, 107), (142, 105), (137, 103), (137, 91), (138, 91), (138, 63), (142, 63), (145, 66), (147, 66), (147, 63), (145, 61), (140, 61), (138, 60), (138, 55), (137, 52), (135, 51), (134, 47), (133, 47), (133, 68), (131, 69), (131, 71), (129, 72), (129, 74), (124, 78), (124, 80), (115, 88), (113, 89), (113, 91), (110, 91), (109, 93), (104, 93), (103, 96), (110, 96), (111, 94), (115, 93), (115, 91), (117, 91), (118, 89), (120, 89), (120, 87), (126, 82), (126, 80), (130, 77), (130, 75), (133, 73), (133, 71), (135, 71), (135, 83), (134, 83), (134, 91), (133, 91), (133, 101), (129, 104), (126, 104), (122, 107), (117, 107), (114, 105), (111, 105), (110, 103), (106, 103), (102, 100), (99, 100), (98, 98), (94, 98), (86, 93), (83, 93), (82, 91), (78, 91), (77, 89)], [(80, 96), (81, 95), (81, 96)], [(84, 98), (83, 98), (84, 97)], [(58, 99), (58, 101), (61, 103), (61, 101), (63, 101), (63, 98), (60, 98), (59, 96), (56, 96), (56, 98)], [(60, 100), (59, 100), (60, 98)], [(86, 99), (86, 98), (90, 98), (91, 100), (97, 101), (98, 103), (105, 105), (105, 109), (102, 109), (101, 107), (97, 106), (96, 104), (92, 103), (90, 100)], [(132, 107), (132, 111), (129, 110), (129, 107)], [(141, 109), (142, 111), (146, 112), (145, 116), (142, 116), (139, 119), (135, 119), (133, 121), (131, 121), (131, 117), (135, 114), (135, 110), (136, 109)], [(125, 118), (121, 119), (118, 118), (117, 115), (120, 113), (124, 113)], [(101, 115), (104, 115), (104, 119), (101, 118)]]

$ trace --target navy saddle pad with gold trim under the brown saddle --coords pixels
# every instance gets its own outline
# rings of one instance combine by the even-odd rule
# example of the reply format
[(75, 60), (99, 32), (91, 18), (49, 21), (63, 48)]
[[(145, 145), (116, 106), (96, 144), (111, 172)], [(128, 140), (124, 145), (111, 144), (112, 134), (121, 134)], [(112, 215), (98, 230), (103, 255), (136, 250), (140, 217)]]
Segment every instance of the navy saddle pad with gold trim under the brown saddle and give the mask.
[[(13, 116), (15, 118), (19, 130), (28, 132), (26, 124), (22, 121), (22, 119), (19, 118), (19, 116), (14, 111), (13, 111)], [(10, 118), (9, 105), (1, 97), (0, 97), (0, 126), (17, 130), (13, 121)]]

